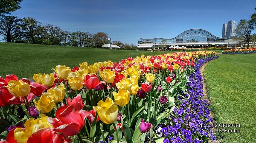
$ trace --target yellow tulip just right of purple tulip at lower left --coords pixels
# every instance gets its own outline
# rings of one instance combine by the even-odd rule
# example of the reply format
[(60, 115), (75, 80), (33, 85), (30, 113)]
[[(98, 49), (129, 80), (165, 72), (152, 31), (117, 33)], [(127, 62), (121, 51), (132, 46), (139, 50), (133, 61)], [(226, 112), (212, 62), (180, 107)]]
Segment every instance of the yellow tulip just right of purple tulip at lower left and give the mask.
[(43, 93), (38, 102), (33, 100), (35, 103), (36, 109), (38, 110), (41, 109), (41, 113), (48, 113), (52, 111), (52, 109), (55, 106), (54, 100), (52, 100), (52, 98), (48, 96), (50, 94), (52, 93)]

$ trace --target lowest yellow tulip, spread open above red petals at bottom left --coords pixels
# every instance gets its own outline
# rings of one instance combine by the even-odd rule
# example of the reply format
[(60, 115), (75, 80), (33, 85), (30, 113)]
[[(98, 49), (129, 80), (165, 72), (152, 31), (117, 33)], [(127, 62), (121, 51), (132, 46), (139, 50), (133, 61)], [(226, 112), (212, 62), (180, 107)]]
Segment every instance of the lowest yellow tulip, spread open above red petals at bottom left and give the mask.
[(30, 135), (37, 132), (39, 129), (51, 128), (47, 121), (47, 116), (44, 114), (40, 115), (40, 118), (31, 118), (24, 123), (25, 129), (16, 128), (14, 130), (14, 139), (17, 143), (27, 143)]

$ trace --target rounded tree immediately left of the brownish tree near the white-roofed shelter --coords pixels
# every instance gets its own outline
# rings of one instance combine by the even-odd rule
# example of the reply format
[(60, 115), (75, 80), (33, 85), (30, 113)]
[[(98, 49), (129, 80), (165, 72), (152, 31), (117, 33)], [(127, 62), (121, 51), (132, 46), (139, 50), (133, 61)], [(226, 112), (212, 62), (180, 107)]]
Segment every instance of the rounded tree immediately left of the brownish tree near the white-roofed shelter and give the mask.
[(91, 47), (93, 45), (92, 36), (88, 32), (72, 32), (69, 37), (71, 43), (77, 43), (79, 47)]

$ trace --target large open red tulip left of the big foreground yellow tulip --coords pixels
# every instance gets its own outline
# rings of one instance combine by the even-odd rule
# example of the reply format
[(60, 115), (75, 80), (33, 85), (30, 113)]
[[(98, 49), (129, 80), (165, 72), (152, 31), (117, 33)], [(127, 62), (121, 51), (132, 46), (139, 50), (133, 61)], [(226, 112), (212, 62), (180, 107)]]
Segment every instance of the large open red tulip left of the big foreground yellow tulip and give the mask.
[(48, 117), (47, 120), (52, 125), (53, 130), (67, 136), (78, 134), (84, 127), (85, 118), (91, 114), (88, 111), (82, 110), (80, 105), (63, 105), (56, 110), (56, 118)]

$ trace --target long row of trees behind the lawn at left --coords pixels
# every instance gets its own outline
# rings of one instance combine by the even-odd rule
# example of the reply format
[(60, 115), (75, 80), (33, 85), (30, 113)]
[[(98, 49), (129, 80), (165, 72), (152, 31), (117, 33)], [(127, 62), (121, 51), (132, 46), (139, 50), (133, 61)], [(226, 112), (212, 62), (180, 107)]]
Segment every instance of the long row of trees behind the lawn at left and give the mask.
[(31, 43), (44, 45), (64, 45), (76, 47), (102, 48), (105, 43), (118, 45), (125, 50), (137, 50), (134, 44), (108, 41), (108, 34), (98, 32), (64, 31), (57, 25), (45, 24), (32, 17), (18, 18), (10, 12), (20, 9), (22, 0), (0, 0), (0, 35), (6, 42)]

